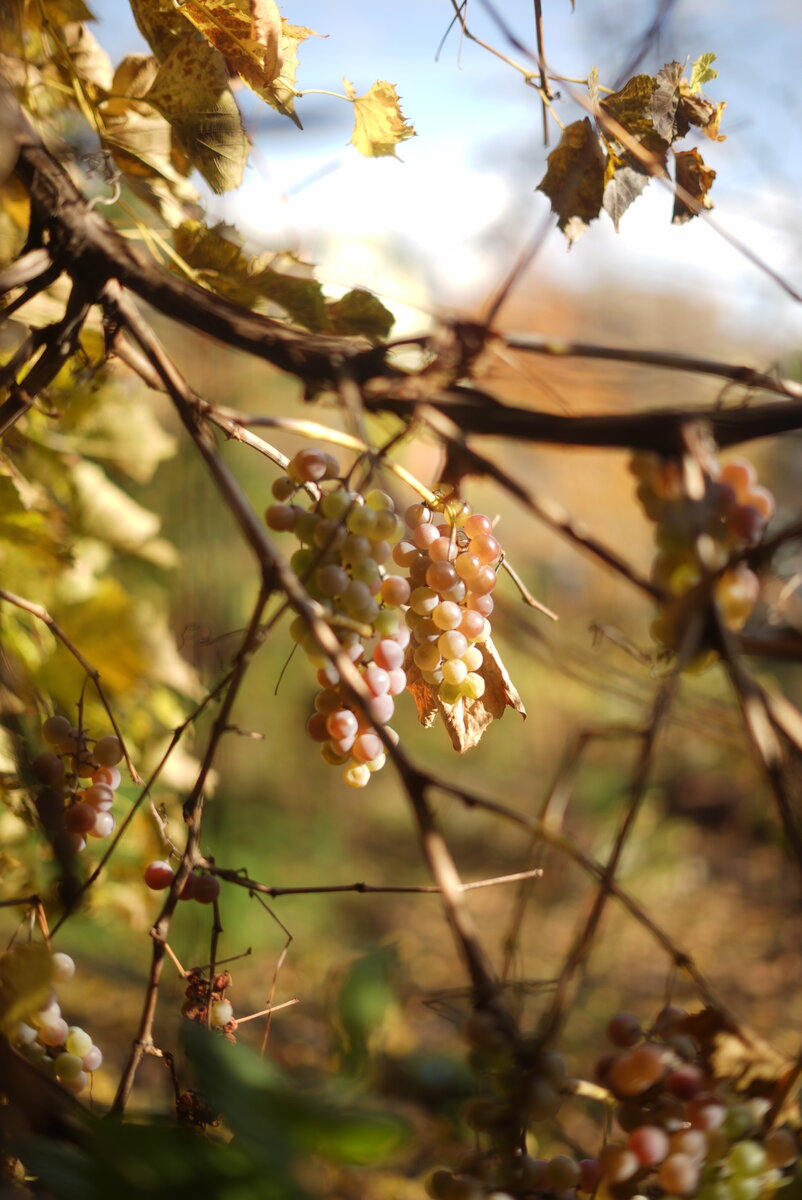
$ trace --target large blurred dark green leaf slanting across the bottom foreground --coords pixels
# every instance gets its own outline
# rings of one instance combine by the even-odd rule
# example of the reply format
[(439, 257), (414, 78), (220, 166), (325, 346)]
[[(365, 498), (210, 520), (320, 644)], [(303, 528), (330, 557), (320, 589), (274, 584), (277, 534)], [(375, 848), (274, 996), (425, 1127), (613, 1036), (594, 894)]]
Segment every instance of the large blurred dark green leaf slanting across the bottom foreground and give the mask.
[(407, 1136), (394, 1114), (357, 1106), (323, 1090), (303, 1091), (243, 1045), (186, 1022), (200, 1090), (237, 1139), (268, 1163), (315, 1154), (341, 1163), (382, 1162)]

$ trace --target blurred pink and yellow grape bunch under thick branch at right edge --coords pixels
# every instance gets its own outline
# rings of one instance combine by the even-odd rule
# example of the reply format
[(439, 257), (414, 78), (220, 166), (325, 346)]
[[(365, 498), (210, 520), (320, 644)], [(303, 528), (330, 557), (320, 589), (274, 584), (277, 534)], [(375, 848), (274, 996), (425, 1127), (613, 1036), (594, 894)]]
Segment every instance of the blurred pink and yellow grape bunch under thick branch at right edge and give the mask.
[(756, 482), (752, 463), (736, 458), (719, 467), (708, 457), (699, 499), (688, 496), (682, 466), (674, 460), (639, 454), (630, 469), (644, 511), (657, 526), (652, 581), (670, 598), (652, 624), (654, 638), (670, 650), (678, 649), (693, 589), (712, 574), (717, 574), (713, 595), (724, 623), (742, 629), (758, 602), (760, 581), (744, 563), (732, 559), (760, 540), (774, 512), (772, 494)]

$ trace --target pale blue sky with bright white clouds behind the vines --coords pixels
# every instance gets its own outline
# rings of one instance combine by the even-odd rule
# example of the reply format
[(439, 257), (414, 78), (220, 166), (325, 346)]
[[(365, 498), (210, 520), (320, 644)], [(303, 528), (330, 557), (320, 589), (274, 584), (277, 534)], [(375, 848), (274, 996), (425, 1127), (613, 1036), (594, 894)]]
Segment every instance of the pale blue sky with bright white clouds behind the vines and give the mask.
[[(532, 0), (496, 0), (496, 7), (531, 46)], [(576, 0), (571, 13), (569, 0), (544, 0), (550, 65), (581, 77), (597, 66), (612, 85), (654, 7), (652, 0)], [(96, 0), (94, 10), (114, 17), (100, 30), (113, 53), (134, 48), (136, 34), (120, 19), (127, 5)], [(547, 214), (547, 200), (534, 192), (547, 154), (537, 95), (505, 64), (462, 42), (459, 30), (436, 61), (449, 0), (286, 0), (282, 12), (327, 35), (301, 46), (300, 88), (340, 91), (347, 74), (364, 91), (389, 79), (418, 137), (400, 148), (402, 162), (365, 161), (347, 146), (349, 106), (324, 96), (300, 100), (300, 132), (243, 90), (252, 164), (238, 193), (210, 198), (210, 215), (255, 240), (299, 251), (334, 286), (381, 280), (391, 301), (475, 306)], [(478, 34), (521, 58), (480, 0), (469, 0), (468, 16)], [(717, 53), (719, 68), (708, 95), (728, 101), (728, 139), (700, 144), (718, 173), (714, 217), (802, 290), (802, 6), (677, 0), (641, 70), (706, 50)], [(571, 103), (558, 110), (565, 122), (581, 115)], [(699, 221), (672, 227), (670, 214), (671, 198), (652, 182), (618, 235), (603, 216), (567, 253), (553, 230), (538, 270), (558, 288), (581, 289), (612, 274), (639, 286), (701, 292), (778, 343), (800, 341), (800, 305), (712, 229)], [(407, 324), (421, 319), (414, 310), (406, 314)]]

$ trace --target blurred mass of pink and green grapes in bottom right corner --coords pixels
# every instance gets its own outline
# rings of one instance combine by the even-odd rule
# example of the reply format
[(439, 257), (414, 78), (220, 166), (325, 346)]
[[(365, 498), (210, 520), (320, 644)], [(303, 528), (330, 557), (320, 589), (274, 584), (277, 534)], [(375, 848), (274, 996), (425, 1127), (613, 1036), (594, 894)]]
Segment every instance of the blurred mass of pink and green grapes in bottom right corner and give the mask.
[(474, 1012), (465, 1036), (469, 1063), (486, 1087), (468, 1102), (463, 1116), (478, 1145), (456, 1170), (439, 1169), (429, 1176), (429, 1195), (433, 1200), (771, 1196), (798, 1170), (797, 1135), (788, 1124), (766, 1132), (770, 1100), (744, 1096), (714, 1076), (710, 1028), (717, 1027), (717, 1015), (669, 1006), (644, 1031), (632, 1013), (616, 1013), (606, 1028), (610, 1052), (595, 1066), (597, 1081), (614, 1105), (603, 1146), (593, 1157), (535, 1158), (527, 1153), (527, 1134), (553, 1120), (576, 1085), (557, 1051), (537, 1037), (510, 1037), (492, 1013)]

